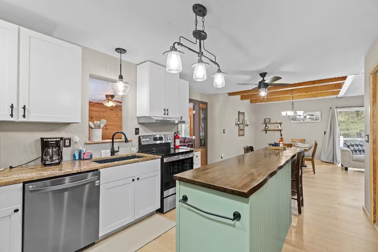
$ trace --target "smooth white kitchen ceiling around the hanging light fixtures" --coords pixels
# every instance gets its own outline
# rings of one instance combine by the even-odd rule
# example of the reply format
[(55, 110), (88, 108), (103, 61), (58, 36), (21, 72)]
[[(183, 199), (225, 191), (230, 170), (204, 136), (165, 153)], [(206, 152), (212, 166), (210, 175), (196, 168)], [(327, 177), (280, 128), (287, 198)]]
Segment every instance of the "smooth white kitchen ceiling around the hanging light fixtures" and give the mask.
[[(179, 36), (193, 39), (193, 0), (0, 0), (0, 18), (26, 28), (117, 56), (132, 63), (165, 65), (161, 54)], [(282, 82), (363, 72), (363, 58), (378, 35), (377, 0), (203, 0), (207, 7), (205, 47), (228, 73), (226, 87), (192, 80), (196, 55), (185, 49), (182, 79), (197, 92), (245, 90), (258, 73)], [(199, 22), (201, 27), (201, 22)], [(187, 45), (189, 45), (187, 43)], [(190, 46), (190, 45), (189, 45)], [(198, 50), (197, 48), (195, 48)], [(359, 90), (359, 89), (357, 89)]]

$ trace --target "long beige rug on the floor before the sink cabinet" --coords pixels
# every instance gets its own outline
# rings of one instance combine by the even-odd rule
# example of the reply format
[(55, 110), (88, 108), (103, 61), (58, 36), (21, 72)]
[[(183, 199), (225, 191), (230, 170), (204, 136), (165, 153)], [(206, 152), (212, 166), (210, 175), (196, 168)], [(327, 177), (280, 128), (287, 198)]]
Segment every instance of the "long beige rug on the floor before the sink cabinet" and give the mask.
[(154, 214), (95, 244), (85, 252), (135, 252), (175, 225), (174, 221)]

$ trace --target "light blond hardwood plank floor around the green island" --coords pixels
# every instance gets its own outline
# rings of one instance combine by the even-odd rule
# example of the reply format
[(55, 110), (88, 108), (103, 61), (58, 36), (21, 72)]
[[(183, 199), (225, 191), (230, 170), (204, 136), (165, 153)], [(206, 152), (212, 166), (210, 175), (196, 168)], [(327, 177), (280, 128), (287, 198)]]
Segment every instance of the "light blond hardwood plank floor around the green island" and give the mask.
[[(293, 221), (283, 252), (378, 252), (378, 233), (362, 211), (364, 173), (315, 161), (303, 168), (304, 207)], [(175, 219), (172, 210), (162, 215)], [(138, 252), (175, 252), (175, 228)]]

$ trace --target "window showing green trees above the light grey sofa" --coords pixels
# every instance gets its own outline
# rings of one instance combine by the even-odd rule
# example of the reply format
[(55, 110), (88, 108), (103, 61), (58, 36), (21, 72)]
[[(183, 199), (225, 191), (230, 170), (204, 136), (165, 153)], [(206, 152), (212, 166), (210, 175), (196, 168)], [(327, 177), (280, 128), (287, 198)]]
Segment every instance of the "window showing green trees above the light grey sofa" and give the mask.
[(365, 138), (364, 107), (336, 108), (339, 136)]

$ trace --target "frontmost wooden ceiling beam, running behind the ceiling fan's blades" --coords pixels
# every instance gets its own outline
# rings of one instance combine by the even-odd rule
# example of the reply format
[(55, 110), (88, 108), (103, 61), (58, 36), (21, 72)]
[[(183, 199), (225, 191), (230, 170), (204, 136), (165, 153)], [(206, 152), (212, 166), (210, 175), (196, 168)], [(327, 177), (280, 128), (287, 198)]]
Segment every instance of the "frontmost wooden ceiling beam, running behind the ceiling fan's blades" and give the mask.
[[(291, 88), (300, 88), (300, 87), (315, 86), (315, 85), (326, 85), (326, 84), (344, 82), (346, 79), (347, 79), (347, 76), (329, 78), (329, 79), (318, 79), (318, 80), (290, 84), (287, 87), (270, 87), (268, 90), (278, 91), (278, 90), (285, 90), (285, 89), (291, 89)], [(235, 96), (235, 95), (242, 95), (242, 94), (257, 94), (258, 92), (259, 90), (255, 88), (255, 89), (250, 89), (250, 90), (231, 92), (231, 93), (228, 93), (228, 95)]]

